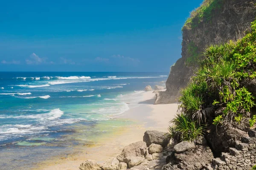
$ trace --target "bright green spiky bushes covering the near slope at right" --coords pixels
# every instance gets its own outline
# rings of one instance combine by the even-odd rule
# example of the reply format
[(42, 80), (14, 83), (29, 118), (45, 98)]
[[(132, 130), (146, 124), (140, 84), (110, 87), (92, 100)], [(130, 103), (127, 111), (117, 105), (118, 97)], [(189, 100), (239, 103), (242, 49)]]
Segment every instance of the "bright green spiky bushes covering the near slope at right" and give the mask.
[[(256, 78), (256, 21), (251, 24), (251, 31), (241, 40), (212, 45), (204, 52), (195, 76), (180, 91), (179, 114), (169, 127), (177, 141), (195, 141), (209, 123), (255, 125), (256, 115), (251, 115), (255, 96), (244, 87), (244, 82)], [(216, 109), (220, 111), (211, 119)]]

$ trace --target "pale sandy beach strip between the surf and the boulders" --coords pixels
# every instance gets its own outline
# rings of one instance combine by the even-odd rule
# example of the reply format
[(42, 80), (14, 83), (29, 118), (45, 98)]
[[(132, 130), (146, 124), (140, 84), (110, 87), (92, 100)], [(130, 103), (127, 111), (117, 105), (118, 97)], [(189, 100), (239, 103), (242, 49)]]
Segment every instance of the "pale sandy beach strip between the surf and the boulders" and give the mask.
[[(115, 157), (122, 152), (122, 148), (132, 142), (143, 140), (145, 130), (159, 130), (167, 132), (169, 121), (175, 117), (177, 103), (153, 105), (155, 94), (152, 91), (144, 92), (143, 100), (136, 108), (123, 113), (114, 119), (129, 119), (134, 124), (120, 127), (111, 136), (99, 136), (93, 144), (84, 148), (78, 147), (68, 156), (55, 156), (50, 161), (37, 164), (36, 170), (79, 170), (79, 165), (87, 159), (99, 163)], [(35, 170), (34, 169), (34, 170)]]

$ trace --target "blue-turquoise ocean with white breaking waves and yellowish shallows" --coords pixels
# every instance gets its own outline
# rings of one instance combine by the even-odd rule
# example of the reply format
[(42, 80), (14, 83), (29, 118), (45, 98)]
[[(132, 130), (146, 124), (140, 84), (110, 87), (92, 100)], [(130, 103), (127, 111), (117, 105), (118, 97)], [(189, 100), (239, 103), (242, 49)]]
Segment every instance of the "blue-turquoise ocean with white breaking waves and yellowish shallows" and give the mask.
[(164, 85), (168, 74), (0, 72), (1, 169), (29, 169), (131, 124), (114, 118), (137, 107), (145, 86)]

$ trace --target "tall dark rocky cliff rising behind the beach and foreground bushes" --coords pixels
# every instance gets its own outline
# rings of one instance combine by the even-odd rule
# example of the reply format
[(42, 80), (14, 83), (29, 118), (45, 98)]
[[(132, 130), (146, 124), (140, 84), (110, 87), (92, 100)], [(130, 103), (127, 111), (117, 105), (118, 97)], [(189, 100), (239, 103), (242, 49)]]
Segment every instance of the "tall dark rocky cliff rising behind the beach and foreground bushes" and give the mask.
[(182, 28), (182, 57), (172, 66), (166, 91), (156, 94), (155, 104), (176, 102), (204, 49), (239, 39), (255, 17), (256, 0), (205, 0)]

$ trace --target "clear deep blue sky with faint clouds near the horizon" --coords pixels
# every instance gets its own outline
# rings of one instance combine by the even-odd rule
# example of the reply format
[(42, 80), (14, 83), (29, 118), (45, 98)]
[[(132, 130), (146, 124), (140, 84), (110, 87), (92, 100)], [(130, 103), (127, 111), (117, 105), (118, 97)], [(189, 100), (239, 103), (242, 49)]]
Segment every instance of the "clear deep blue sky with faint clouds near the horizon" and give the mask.
[(202, 0), (9, 0), (0, 71), (166, 71)]

